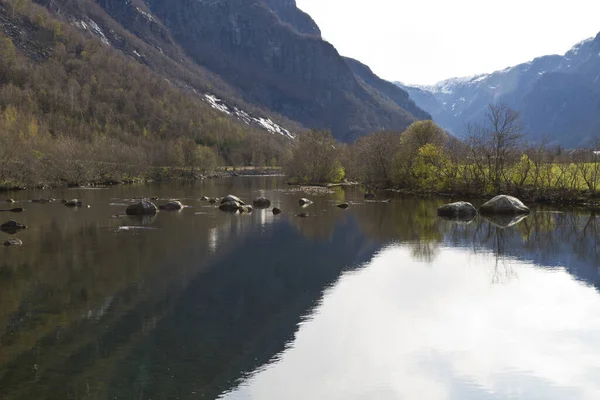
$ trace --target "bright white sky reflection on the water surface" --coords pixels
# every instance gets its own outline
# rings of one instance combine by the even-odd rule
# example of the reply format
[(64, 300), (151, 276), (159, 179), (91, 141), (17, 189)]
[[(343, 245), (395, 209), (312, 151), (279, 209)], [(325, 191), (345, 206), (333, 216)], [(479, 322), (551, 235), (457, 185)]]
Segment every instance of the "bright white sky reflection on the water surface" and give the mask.
[(278, 361), (226, 399), (600, 398), (600, 296), (563, 269), (382, 251), (325, 295)]

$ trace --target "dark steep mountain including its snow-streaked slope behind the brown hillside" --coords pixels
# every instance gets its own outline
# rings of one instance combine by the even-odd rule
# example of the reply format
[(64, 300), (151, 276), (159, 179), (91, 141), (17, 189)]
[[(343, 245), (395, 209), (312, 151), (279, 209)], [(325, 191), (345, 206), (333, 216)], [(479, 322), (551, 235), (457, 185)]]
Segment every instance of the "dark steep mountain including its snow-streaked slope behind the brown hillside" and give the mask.
[(357, 76), (294, 0), (37, 1), (161, 74), (159, 56), (202, 75), (186, 84), (289, 130), (286, 121), (352, 141), (429, 117), (400, 101), (401, 89), (382, 93)]

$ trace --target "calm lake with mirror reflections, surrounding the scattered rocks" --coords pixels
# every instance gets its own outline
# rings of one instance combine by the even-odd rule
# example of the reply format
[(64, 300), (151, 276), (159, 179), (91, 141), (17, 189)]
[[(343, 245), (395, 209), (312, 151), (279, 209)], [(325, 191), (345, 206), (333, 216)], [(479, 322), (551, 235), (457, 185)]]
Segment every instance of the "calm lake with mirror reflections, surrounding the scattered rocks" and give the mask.
[[(283, 214), (200, 200), (230, 193)], [(29, 229), (0, 232), (24, 242), (0, 248), (0, 399), (600, 399), (598, 216), (453, 223), (444, 200), (363, 193), (238, 177), (10, 194), (27, 210), (0, 219)], [(189, 208), (114, 217), (139, 196)]]

